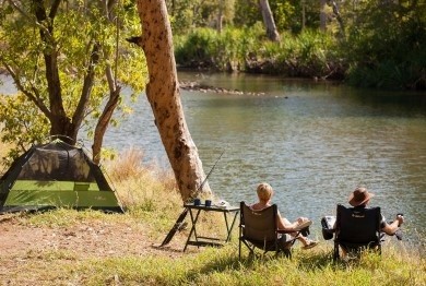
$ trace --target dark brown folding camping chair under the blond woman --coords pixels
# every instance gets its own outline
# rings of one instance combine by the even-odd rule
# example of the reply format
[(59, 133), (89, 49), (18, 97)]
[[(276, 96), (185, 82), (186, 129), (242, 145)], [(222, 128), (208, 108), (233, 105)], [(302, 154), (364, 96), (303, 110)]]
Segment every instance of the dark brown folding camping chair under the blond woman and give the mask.
[[(245, 202), (240, 202), (240, 224), (239, 224), (239, 260), (241, 259), (241, 245), (245, 245), (249, 255), (256, 255), (256, 249), (260, 249), (265, 254), (268, 251), (274, 251), (275, 255), (284, 253), (291, 258), (291, 247), (296, 241), (299, 231), (279, 230), (276, 225), (276, 204), (273, 204), (261, 211), (251, 210)], [(306, 231), (307, 229), (304, 229)], [(280, 234), (296, 234), (288, 242), (287, 247), (281, 243)]]

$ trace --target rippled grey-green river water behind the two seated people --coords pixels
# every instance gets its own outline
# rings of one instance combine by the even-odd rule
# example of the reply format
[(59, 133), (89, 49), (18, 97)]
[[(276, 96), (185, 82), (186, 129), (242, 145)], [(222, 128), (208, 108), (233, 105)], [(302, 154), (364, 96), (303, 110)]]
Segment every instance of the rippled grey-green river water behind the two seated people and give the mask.
[[(282, 214), (308, 216), (319, 228), (322, 216), (365, 186), (388, 219), (404, 213), (410, 238), (425, 236), (425, 93), (247, 74), (179, 73), (179, 80), (246, 93), (181, 92), (205, 172), (224, 151), (209, 178), (217, 198), (255, 202), (265, 181)], [(137, 147), (146, 160), (169, 166), (145, 96), (108, 130), (105, 146)]]

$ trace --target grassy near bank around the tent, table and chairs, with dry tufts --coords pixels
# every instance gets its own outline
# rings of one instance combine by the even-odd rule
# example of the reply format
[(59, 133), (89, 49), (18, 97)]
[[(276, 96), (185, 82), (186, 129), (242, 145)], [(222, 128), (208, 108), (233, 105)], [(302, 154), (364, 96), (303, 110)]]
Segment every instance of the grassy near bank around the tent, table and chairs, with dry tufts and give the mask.
[[(85, 245), (82, 251), (61, 247), (34, 249), (28, 243), (23, 252), (0, 257), (0, 285), (426, 285), (424, 250), (399, 245), (397, 240), (383, 246), (381, 257), (369, 253), (358, 261), (338, 264), (332, 263), (330, 241), (321, 241), (307, 251), (296, 246), (292, 260), (248, 260), (245, 251), (239, 261), (236, 228), (234, 240), (224, 248), (191, 248), (182, 253), (189, 231), (186, 229), (174, 238), (174, 247), (158, 250), (155, 245), (181, 212), (181, 201), (171, 175), (161, 171), (155, 164), (142, 166), (141, 156), (138, 151), (129, 151), (106, 166), (120, 199), (129, 207), (126, 214), (57, 210), (1, 217), (0, 226), (12, 222), (12, 228), (43, 234), (52, 229), (70, 233), (81, 226), (90, 233), (96, 226), (107, 225), (119, 230), (105, 236), (107, 240), (116, 240), (120, 247), (144, 242), (144, 250), (134, 253), (122, 248), (120, 253), (99, 255), (91, 250), (99, 243), (88, 240), (78, 240)], [(218, 234), (216, 219), (204, 217), (199, 231)], [(98, 233), (103, 228), (99, 229)], [(122, 229), (139, 229), (141, 237), (129, 240), (130, 231)], [(15, 240), (19, 243), (19, 237)]]

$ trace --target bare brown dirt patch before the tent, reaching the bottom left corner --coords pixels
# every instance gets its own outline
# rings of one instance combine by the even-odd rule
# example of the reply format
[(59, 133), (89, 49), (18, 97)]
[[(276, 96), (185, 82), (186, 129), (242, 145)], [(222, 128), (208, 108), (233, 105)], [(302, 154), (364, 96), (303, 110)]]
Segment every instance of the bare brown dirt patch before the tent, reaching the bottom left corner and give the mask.
[[(22, 225), (17, 219), (0, 217), (0, 285), (8, 274), (34, 255), (57, 250), (72, 253), (76, 260), (122, 257), (163, 255), (181, 257), (185, 238), (177, 234), (166, 248), (158, 248), (163, 238), (153, 241), (142, 225), (99, 221), (72, 227), (33, 227)], [(194, 250), (192, 250), (194, 251)], [(189, 252), (192, 252), (189, 251)]]

